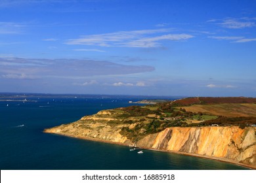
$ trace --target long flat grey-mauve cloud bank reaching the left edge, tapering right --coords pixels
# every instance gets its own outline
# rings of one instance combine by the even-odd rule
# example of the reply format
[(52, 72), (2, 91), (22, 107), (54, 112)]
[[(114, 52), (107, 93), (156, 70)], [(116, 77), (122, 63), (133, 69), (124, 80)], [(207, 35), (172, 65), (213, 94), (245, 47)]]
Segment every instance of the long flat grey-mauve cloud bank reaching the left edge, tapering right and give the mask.
[[(0, 58), (2, 78), (86, 78), (154, 71), (147, 65), (122, 65), (93, 59)], [(89, 83), (87, 83), (89, 84)]]

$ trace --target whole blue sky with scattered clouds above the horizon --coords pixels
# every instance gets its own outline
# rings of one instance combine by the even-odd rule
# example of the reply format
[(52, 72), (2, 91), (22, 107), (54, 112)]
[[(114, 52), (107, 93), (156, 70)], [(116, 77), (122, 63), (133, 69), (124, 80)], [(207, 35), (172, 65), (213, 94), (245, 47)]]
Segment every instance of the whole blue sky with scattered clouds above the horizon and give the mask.
[(0, 92), (256, 97), (256, 1), (1, 0)]

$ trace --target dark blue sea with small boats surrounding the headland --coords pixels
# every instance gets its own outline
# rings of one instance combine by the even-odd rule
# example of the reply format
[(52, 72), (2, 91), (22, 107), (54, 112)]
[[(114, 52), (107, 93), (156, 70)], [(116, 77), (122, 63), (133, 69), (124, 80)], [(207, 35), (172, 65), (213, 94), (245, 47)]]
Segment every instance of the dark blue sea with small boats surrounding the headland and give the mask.
[[(7, 95), (9, 97), (9, 95)], [(84, 141), (43, 133), (107, 108), (145, 97), (0, 95), (0, 169), (245, 169), (211, 159)], [(9, 101), (7, 101), (7, 99)], [(26, 99), (26, 101), (22, 101)]]

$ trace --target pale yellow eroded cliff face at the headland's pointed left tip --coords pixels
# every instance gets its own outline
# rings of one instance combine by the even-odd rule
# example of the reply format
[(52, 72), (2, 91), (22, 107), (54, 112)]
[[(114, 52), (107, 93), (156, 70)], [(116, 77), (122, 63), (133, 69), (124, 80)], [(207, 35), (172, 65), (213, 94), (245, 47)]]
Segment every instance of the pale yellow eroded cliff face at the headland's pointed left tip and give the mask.
[(98, 114), (104, 114), (104, 117), (96, 115), (85, 116), (81, 120), (64, 124), (49, 129), (45, 129), (45, 133), (55, 133), (79, 139), (89, 139), (93, 141), (116, 142), (121, 144), (131, 144), (131, 141), (119, 132), (124, 126), (123, 124), (112, 124), (111, 121), (116, 118), (107, 118), (108, 111), (100, 111)]

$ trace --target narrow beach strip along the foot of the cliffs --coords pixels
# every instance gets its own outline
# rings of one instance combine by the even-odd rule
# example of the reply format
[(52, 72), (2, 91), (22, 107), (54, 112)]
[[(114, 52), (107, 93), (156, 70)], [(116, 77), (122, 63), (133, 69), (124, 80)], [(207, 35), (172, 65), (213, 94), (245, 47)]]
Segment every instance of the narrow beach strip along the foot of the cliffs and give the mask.
[[(95, 141), (95, 142), (103, 142), (103, 143), (107, 143), (107, 144), (116, 144), (116, 145), (120, 145), (120, 146), (129, 147), (128, 144), (124, 144), (124, 143), (121, 143), (121, 142), (104, 141), (102, 139), (81, 137), (81, 136), (75, 136), (75, 135), (66, 135), (64, 133), (52, 133), (52, 132), (47, 131), (47, 129), (44, 129), (43, 133), (51, 133), (51, 134), (54, 134), (54, 135), (62, 135), (62, 136), (65, 136), (65, 137), (71, 137), (71, 138), (75, 138), (75, 139), (82, 139), (82, 140)], [(254, 166), (247, 165), (247, 164), (244, 164), (244, 163), (239, 163), (239, 162), (232, 161), (232, 160), (229, 160), (229, 159), (226, 159), (226, 158), (215, 158), (215, 157), (209, 157), (209, 156), (202, 156), (200, 154), (189, 154), (189, 153), (186, 153), (186, 152), (178, 152), (178, 151), (171, 151), (171, 150), (158, 150), (158, 149), (155, 149), (155, 148), (145, 148), (145, 147), (139, 147), (139, 148), (146, 149), (146, 150), (154, 150), (154, 151), (159, 151), (159, 152), (168, 152), (168, 153), (173, 153), (173, 154), (181, 154), (181, 155), (184, 155), (184, 156), (192, 156), (192, 157), (197, 157), (197, 158), (213, 159), (215, 161), (222, 161), (222, 162), (225, 162), (225, 163), (231, 163), (233, 165), (238, 165), (238, 166), (241, 166), (241, 167), (249, 168), (251, 170), (256, 170), (256, 167), (254, 167)]]

